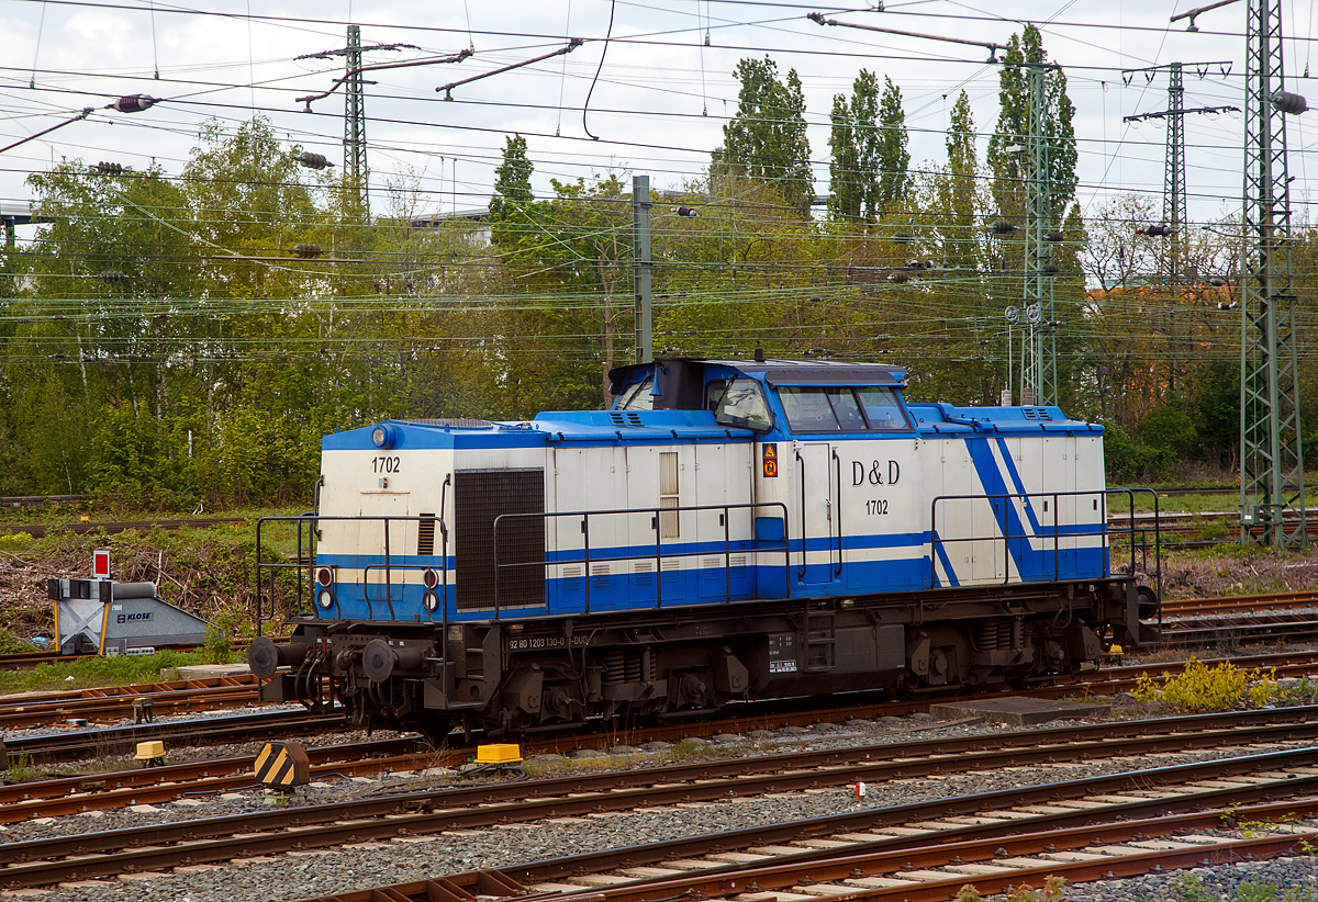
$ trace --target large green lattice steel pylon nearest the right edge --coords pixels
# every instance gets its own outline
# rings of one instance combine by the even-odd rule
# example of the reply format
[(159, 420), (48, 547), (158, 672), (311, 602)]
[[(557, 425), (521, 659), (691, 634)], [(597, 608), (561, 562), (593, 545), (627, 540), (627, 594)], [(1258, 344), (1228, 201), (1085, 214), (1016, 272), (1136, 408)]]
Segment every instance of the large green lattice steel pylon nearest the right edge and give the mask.
[(1304, 103), (1284, 93), (1281, 0), (1247, 0), (1246, 5), (1240, 541), (1300, 548), (1309, 539), (1282, 111), (1302, 112)]

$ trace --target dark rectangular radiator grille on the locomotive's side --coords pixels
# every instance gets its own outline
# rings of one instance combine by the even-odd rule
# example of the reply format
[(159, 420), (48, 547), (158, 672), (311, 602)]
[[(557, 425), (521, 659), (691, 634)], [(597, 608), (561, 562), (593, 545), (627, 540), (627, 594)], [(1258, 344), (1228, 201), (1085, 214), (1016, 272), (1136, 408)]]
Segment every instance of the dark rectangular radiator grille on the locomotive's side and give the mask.
[[(457, 610), (494, 607), (494, 520), (544, 512), (544, 470), (453, 474)], [(505, 519), (498, 528), (500, 607), (544, 604), (544, 520)], [(511, 566), (510, 566), (511, 565)]]

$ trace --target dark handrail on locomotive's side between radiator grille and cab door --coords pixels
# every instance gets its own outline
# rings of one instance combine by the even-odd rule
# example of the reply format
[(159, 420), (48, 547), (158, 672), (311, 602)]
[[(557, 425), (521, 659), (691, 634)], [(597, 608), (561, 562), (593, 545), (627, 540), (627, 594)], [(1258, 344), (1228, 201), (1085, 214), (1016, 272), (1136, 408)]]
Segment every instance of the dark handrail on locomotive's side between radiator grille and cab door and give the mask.
[[(754, 511), (760, 508), (778, 508), (783, 515), (783, 540), (782, 543), (774, 543), (768, 546), (760, 546), (759, 540), (755, 539), (754, 528)], [(662, 546), (662, 515), (663, 514), (688, 514), (699, 511), (721, 511), (724, 520), (724, 585), (725, 585), (725, 600), (731, 600), (731, 511), (751, 511), (751, 532), (746, 537), (746, 541), (753, 541), (757, 544), (755, 548), (750, 549), (754, 552), (768, 552), (768, 553), (782, 553), (783, 554), (783, 595), (782, 598), (791, 597), (791, 535), (787, 524), (787, 504), (783, 502), (749, 502), (739, 504), (701, 504), (692, 507), (629, 507), (629, 508), (613, 508), (605, 511), (544, 511), (536, 514), (501, 514), (494, 517), (494, 619), (498, 620), (502, 612), (502, 597), (500, 593), (500, 573), (506, 568), (544, 568), (556, 566), (563, 564), (581, 564), (583, 565), (583, 579), (585, 581), (585, 612), (590, 612), (590, 517), (592, 516), (637, 516), (646, 515), (651, 516), (651, 528), (655, 531), (655, 545), (654, 553), (646, 549), (642, 554), (623, 554), (618, 557), (609, 557), (608, 561), (635, 561), (635, 560), (654, 560), (655, 564), (655, 608), (663, 607), (663, 561), (664, 558), (683, 558), (683, 557), (700, 557), (708, 552), (664, 552)], [(500, 527), (505, 521), (521, 520), (539, 517), (543, 521), (548, 521), (551, 517), (581, 517), (581, 536), (583, 546), (580, 549), (556, 549), (556, 553), (561, 554), (568, 550), (580, 550), (581, 558), (577, 560), (542, 560), (542, 561), (518, 561), (514, 564), (500, 564), (498, 549), (500, 549)]]

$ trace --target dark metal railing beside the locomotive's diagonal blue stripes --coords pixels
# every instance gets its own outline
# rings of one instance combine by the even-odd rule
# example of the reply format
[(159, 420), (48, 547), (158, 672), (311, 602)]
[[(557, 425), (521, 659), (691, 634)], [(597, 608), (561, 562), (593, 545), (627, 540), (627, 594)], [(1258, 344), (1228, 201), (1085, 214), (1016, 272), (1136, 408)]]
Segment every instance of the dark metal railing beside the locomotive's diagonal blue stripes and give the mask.
[[(1153, 554), (1155, 554), (1155, 573), (1156, 573), (1156, 577), (1157, 577), (1159, 598), (1161, 598), (1161, 595), (1162, 595), (1162, 556), (1161, 556), (1162, 554), (1162, 550), (1161, 550), (1162, 543), (1161, 543), (1161, 535), (1159, 533), (1159, 525), (1157, 525), (1159, 524), (1159, 500), (1157, 500), (1157, 492), (1153, 491), (1152, 489), (1102, 489), (1102, 490), (1078, 490), (1078, 491), (1007, 492), (1007, 494), (1000, 494), (1000, 495), (938, 495), (938, 496), (936, 496), (931, 502), (931, 510), (929, 510), (929, 537), (931, 537), (931, 546), (929, 546), (929, 552), (931, 552), (929, 553), (929, 583), (933, 585), (936, 574), (937, 574), (940, 546), (945, 550), (946, 546), (949, 546), (949, 545), (956, 546), (956, 545), (961, 545), (963, 543), (994, 543), (994, 544), (1000, 543), (1002, 544), (1002, 550), (1003, 550), (1003, 579), (1002, 581), (1003, 581), (1003, 583), (1010, 583), (1010, 582), (1014, 582), (1014, 579), (1012, 579), (1012, 569), (1011, 569), (1011, 561), (1014, 560), (1014, 556), (1012, 556), (1012, 543), (1016, 543), (1017, 545), (1020, 545), (1023, 543), (1029, 543), (1029, 541), (1044, 543), (1044, 545), (1045, 545), (1045, 548), (1044, 548), (1045, 553), (1048, 550), (1046, 545), (1048, 545), (1048, 543), (1050, 543), (1052, 544), (1052, 549), (1050, 549), (1052, 550), (1052, 560), (1053, 560), (1052, 574), (1039, 573), (1039, 574), (1031, 574), (1031, 575), (1033, 575), (1035, 578), (1048, 578), (1050, 575), (1053, 579), (1061, 579), (1062, 578), (1061, 561), (1062, 561), (1062, 553), (1064, 553), (1062, 540), (1068, 540), (1068, 541), (1074, 540), (1077, 543), (1077, 550), (1079, 550), (1079, 543), (1082, 540), (1086, 540), (1086, 539), (1102, 539), (1103, 540), (1102, 541), (1103, 573), (1107, 574), (1107, 573), (1111, 573), (1111, 570), (1112, 570), (1111, 545), (1110, 545), (1110, 543), (1111, 543), (1111, 540), (1112, 540), (1114, 536), (1116, 536), (1116, 537), (1126, 536), (1130, 540), (1130, 545), (1131, 545), (1131, 573), (1133, 574), (1135, 570), (1136, 570), (1136, 568), (1135, 568), (1135, 560), (1136, 560), (1136, 550), (1137, 550), (1137, 544), (1136, 544), (1136, 540), (1135, 540), (1135, 533), (1136, 533), (1135, 520), (1133, 520), (1133, 517), (1131, 517), (1131, 521), (1130, 521), (1130, 524), (1128, 524), (1128, 527), (1126, 529), (1114, 529), (1112, 524), (1108, 521), (1108, 511), (1107, 511), (1107, 508), (1108, 508), (1108, 499), (1111, 496), (1114, 496), (1114, 495), (1116, 495), (1116, 496), (1124, 496), (1127, 499), (1130, 510), (1133, 511), (1135, 510), (1135, 495), (1136, 494), (1145, 494), (1145, 492), (1153, 499)], [(1098, 502), (1098, 504), (1097, 504), (1097, 507), (1098, 507), (1097, 516), (1093, 517), (1091, 521), (1086, 523), (1086, 521), (1082, 521), (1081, 517), (1079, 517), (1079, 515), (1077, 514), (1077, 516), (1074, 516), (1072, 519), (1072, 521), (1065, 521), (1065, 523), (1064, 521), (1058, 521), (1058, 511), (1061, 510), (1061, 506), (1058, 504), (1058, 502), (1061, 499), (1077, 499), (1077, 500), (1079, 500), (1079, 499), (1094, 499), (1094, 500)], [(1037, 506), (1037, 504), (1031, 506), (1031, 500), (1044, 502), (1043, 510), (1039, 510), (1040, 506)], [(957, 535), (957, 536), (953, 536), (953, 537), (945, 537), (945, 536), (940, 535), (940, 532), (938, 532), (938, 506), (941, 503), (948, 503), (948, 502), (969, 502), (969, 503), (986, 502), (986, 503), (991, 504), (992, 508), (994, 508), (992, 535), (983, 536), (983, 535), (974, 535), (974, 533), (971, 533), (971, 535), (967, 535), (967, 536)], [(1028, 507), (1029, 510), (1033, 511), (1033, 514), (1035, 514), (1036, 517), (1039, 515), (1041, 515), (1041, 514), (1052, 514), (1052, 521), (1050, 523), (1044, 523), (1040, 519), (1039, 523), (1037, 523), (1039, 528), (1036, 531), (1033, 531), (1033, 532), (1025, 529), (1024, 524), (1023, 524), (1023, 528), (1017, 529), (1014, 533), (1012, 532), (1012, 519), (1014, 517), (1010, 515), (1010, 512), (1011, 512), (1011, 508), (1015, 507), (1016, 502), (1021, 503), (1020, 507), (1021, 507), (1023, 515), (1024, 515), (1024, 510)], [(1002, 506), (1000, 510), (999, 510), (999, 506)], [(962, 523), (973, 523), (973, 520), (971, 520), (971, 517), (969, 515), (966, 515), (966, 516), (960, 517), (960, 520), (957, 520), (957, 523), (960, 525)], [(1065, 529), (1065, 532), (1064, 532), (1064, 529)], [(1065, 549), (1065, 550), (1070, 550), (1070, 549)], [(1145, 571), (1148, 571), (1147, 568), (1145, 568)], [(1017, 570), (1015, 582), (1021, 582), (1021, 581), (1023, 579), (1020, 577), (1020, 571)]]

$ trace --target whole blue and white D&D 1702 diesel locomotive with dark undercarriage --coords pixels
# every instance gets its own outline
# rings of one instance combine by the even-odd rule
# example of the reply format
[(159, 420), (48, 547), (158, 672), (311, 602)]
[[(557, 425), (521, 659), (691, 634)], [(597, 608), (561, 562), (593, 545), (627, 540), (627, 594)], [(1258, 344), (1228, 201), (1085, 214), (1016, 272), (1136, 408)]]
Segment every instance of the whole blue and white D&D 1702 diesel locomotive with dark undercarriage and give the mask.
[(311, 612), (252, 644), (262, 698), (517, 732), (1028, 683), (1155, 637), (1114, 573), (1102, 427), (908, 404), (869, 363), (610, 377), (609, 411), (326, 437)]

